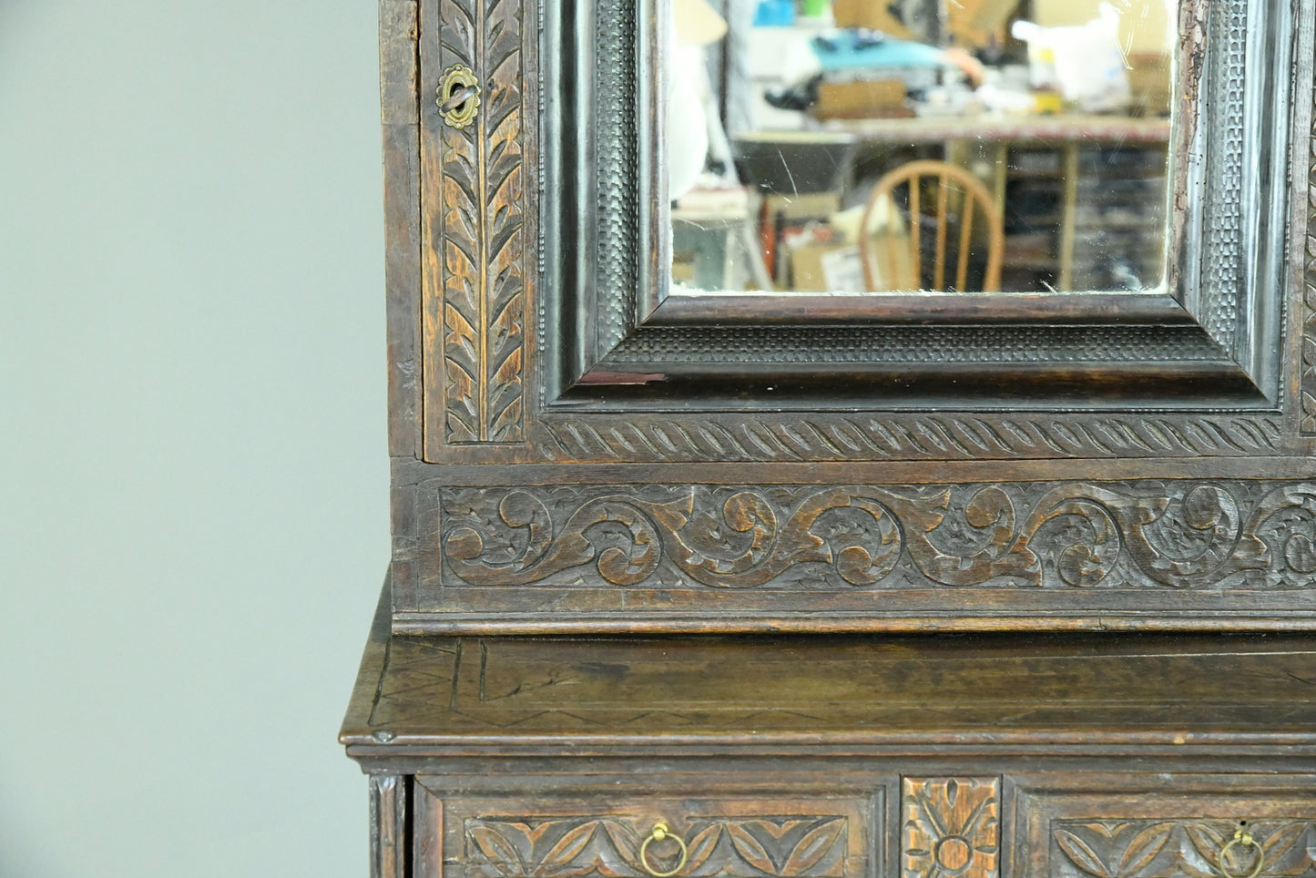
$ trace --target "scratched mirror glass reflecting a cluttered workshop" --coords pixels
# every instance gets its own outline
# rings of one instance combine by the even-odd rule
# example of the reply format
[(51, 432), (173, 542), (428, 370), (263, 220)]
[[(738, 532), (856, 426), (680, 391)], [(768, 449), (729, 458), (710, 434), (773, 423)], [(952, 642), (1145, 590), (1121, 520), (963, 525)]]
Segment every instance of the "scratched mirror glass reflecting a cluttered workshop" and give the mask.
[(1165, 287), (1175, 0), (671, 0), (672, 294)]

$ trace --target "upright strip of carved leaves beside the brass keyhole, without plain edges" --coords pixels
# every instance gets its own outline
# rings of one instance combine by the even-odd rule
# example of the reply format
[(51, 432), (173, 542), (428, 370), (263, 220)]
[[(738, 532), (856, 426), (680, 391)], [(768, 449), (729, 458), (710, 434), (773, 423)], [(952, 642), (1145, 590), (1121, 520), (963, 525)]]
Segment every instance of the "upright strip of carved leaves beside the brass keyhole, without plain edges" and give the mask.
[(475, 121), (442, 126), (441, 350), (447, 442), (524, 436), (525, 241), (521, 4), (442, 0), (445, 66), (480, 83)]

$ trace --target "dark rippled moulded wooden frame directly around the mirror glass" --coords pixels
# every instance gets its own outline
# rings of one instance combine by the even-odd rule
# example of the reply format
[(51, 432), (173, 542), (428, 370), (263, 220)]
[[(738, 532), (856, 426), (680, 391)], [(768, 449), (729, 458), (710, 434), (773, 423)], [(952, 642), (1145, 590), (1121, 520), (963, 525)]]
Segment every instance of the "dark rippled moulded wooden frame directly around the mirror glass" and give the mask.
[(1180, 5), (1163, 295), (667, 296), (666, 11), (638, 5), (546, 8), (550, 411), (1274, 411), (1294, 9)]

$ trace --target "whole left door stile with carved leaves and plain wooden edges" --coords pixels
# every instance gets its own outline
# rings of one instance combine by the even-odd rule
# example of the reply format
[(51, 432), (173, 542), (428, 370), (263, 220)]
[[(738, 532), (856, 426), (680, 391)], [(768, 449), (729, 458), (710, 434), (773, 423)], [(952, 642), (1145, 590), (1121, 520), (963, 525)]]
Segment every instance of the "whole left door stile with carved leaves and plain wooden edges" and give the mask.
[[(520, 3), (422, 3), (420, 63), (482, 83), (479, 112), (446, 126), (422, 99), (425, 180), (425, 448), (519, 442), (525, 430), (525, 13)], [(433, 90), (433, 87), (430, 87)], [(421, 90), (425, 91), (424, 87)], [(529, 108), (533, 109), (533, 101)]]

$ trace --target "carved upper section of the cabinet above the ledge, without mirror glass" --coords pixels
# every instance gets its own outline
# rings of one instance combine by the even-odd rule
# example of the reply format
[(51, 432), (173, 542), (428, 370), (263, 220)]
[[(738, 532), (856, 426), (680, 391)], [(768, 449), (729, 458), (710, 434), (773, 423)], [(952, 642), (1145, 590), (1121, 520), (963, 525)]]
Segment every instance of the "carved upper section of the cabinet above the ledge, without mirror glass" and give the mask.
[(821, 301), (663, 297), (653, 5), (383, 0), (395, 629), (1316, 627), (1312, 1), (1183, 9), (1174, 295)]

